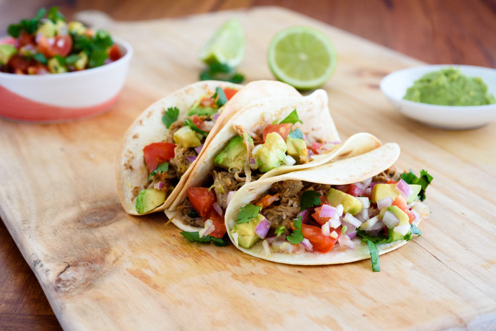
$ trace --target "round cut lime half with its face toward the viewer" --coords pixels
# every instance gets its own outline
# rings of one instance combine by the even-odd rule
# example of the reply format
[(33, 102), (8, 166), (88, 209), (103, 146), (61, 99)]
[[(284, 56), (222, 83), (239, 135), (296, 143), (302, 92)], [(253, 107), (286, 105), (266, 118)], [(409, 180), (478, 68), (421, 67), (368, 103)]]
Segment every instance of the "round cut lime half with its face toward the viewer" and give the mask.
[(279, 31), (270, 41), (267, 60), (277, 79), (301, 90), (323, 85), (337, 65), (329, 37), (308, 26)]

